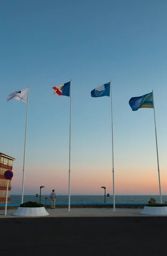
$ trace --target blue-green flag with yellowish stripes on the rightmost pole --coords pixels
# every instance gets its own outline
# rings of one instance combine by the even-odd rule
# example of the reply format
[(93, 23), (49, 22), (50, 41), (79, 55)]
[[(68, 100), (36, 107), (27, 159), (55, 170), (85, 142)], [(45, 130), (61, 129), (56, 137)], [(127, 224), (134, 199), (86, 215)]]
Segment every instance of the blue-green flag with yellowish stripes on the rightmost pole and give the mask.
[(153, 93), (133, 97), (130, 99), (129, 105), (132, 111), (137, 111), (139, 108), (153, 108)]

